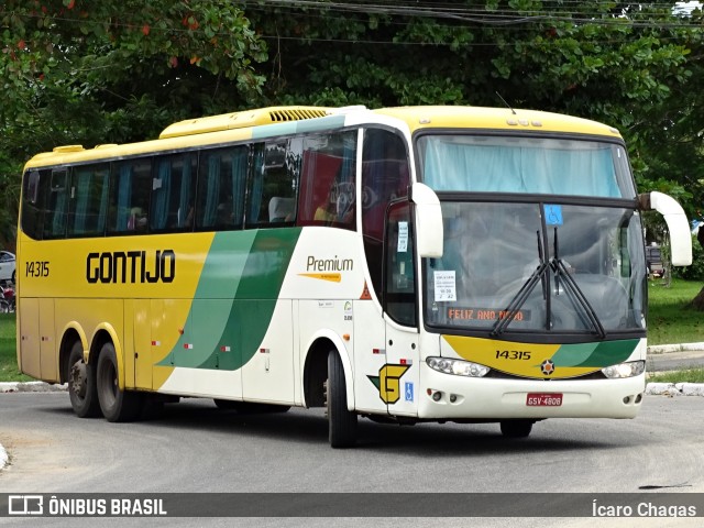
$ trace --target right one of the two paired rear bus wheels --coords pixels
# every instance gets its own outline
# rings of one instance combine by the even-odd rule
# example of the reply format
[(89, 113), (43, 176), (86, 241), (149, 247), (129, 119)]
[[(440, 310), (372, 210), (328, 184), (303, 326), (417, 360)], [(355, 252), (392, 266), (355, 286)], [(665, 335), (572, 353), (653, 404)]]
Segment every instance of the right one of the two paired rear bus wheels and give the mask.
[(140, 415), (142, 394), (120, 391), (118, 359), (112, 343), (103, 344), (100, 350), (96, 381), (100, 409), (108, 421), (132, 421)]

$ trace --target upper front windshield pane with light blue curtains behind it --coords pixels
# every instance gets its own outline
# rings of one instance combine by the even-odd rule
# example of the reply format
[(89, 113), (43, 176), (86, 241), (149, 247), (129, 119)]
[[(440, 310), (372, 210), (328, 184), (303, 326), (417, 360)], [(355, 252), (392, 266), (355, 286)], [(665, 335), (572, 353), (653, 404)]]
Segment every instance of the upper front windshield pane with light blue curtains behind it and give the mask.
[(615, 143), (493, 135), (422, 135), (422, 180), (436, 191), (634, 198), (626, 153)]

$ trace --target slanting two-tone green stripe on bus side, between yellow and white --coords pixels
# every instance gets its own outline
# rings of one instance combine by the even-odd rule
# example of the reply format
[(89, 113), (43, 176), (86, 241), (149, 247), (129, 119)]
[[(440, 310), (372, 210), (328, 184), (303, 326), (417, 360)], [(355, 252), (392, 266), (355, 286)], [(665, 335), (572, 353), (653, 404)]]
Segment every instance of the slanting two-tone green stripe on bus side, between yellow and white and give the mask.
[(300, 228), (217, 233), (184, 334), (158, 364), (233, 371), (250, 361), (271, 323), (299, 235)]

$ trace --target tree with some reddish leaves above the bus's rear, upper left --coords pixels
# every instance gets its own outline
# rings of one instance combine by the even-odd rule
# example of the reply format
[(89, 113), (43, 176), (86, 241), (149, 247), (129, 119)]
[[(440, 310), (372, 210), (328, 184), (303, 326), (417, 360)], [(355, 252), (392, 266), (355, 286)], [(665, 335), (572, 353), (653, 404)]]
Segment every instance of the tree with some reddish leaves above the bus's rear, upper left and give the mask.
[(258, 102), (266, 44), (210, 0), (4, 0), (0, 6), (0, 237), (19, 174), (56, 145), (139, 141), (175, 119)]

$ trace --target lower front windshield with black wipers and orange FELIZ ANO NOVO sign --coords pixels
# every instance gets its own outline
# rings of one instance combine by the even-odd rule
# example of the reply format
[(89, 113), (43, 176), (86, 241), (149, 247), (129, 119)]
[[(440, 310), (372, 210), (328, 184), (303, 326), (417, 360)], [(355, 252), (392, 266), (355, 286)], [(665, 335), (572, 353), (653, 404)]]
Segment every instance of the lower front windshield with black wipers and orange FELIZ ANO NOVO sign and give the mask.
[(425, 265), (426, 322), (598, 336), (645, 329), (645, 255), (631, 209), (443, 201), (444, 253)]

